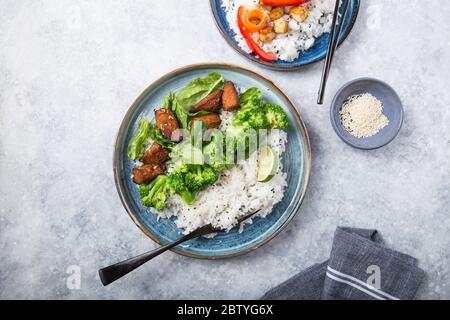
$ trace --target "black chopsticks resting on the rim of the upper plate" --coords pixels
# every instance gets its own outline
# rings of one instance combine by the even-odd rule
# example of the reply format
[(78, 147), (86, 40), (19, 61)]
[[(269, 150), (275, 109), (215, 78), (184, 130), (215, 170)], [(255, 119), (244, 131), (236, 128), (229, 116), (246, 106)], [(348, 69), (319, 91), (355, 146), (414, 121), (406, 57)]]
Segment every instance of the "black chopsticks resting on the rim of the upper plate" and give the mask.
[(322, 70), (322, 80), (320, 82), (319, 98), (317, 104), (323, 104), (323, 98), (325, 95), (325, 89), (327, 86), (328, 75), (330, 74), (331, 64), (333, 63), (334, 53), (339, 43), (339, 36), (342, 31), (342, 26), (344, 25), (345, 16), (347, 15), (350, 0), (342, 0), (345, 2), (344, 11), (341, 18), (339, 19), (339, 8), (341, 6), (341, 0), (336, 0), (336, 5), (334, 8), (333, 22), (330, 31), (330, 40), (328, 42), (327, 56), (325, 58), (325, 64)]

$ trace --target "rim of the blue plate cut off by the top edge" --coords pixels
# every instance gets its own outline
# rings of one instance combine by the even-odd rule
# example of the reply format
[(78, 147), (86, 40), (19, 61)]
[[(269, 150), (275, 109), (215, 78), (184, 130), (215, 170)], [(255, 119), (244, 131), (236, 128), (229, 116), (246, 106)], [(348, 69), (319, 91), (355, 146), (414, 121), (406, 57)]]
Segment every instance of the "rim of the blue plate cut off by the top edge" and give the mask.
[[(352, 1), (352, 0), (350, 0), (350, 1)], [(360, 9), (360, 6), (361, 6), (361, 1), (360, 0), (353, 0), (353, 1), (355, 1), (356, 7), (355, 7), (355, 10), (354, 10), (353, 15), (351, 17), (351, 21), (350, 21), (349, 27), (347, 28), (347, 30), (345, 30), (344, 34), (339, 36), (338, 47), (340, 47), (344, 43), (344, 41), (350, 36), (350, 34), (353, 31), (353, 27), (354, 27), (354, 25), (356, 23), (356, 20), (358, 18), (359, 9)], [(316, 58), (312, 59), (311, 61), (305, 62), (305, 63), (300, 63), (300, 64), (297, 64), (297, 65), (293, 65), (293, 64), (291, 64), (291, 65), (275, 65), (275, 64), (270, 63), (270, 62), (265, 62), (265, 61), (259, 59), (257, 56), (245, 52), (244, 50), (242, 50), (238, 46), (238, 44), (235, 42), (235, 40), (232, 39), (229, 36), (228, 31), (219, 22), (219, 18), (217, 17), (217, 10), (220, 10), (220, 8), (217, 8), (216, 0), (210, 0), (209, 3), (210, 3), (210, 8), (211, 8), (212, 15), (214, 17), (214, 23), (216, 24), (217, 29), (219, 29), (220, 34), (226, 40), (226, 42), (236, 52), (238, 52), (242, 56), (246, 57), (247, 59), (252, 60), (253, 62), (256, 62), (256, 63), (262, 65), (265, 68), (272, 69), (272, 70), (278, 70), (278, 71), (296, 71), (296, 70), (299, 70), (299, 69), (301, 69), (301, 68), (303, 68), (305, 66), (317, 63), (317, 62), (325, 59), (326, 50), (321, 52)]]

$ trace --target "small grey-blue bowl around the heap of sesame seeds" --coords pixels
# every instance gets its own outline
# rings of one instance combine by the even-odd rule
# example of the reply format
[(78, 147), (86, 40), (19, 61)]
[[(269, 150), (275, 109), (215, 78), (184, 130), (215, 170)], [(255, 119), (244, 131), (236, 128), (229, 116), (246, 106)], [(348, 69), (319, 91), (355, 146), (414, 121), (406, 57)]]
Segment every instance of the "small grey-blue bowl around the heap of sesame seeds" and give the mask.
[[(352, 136), (342, 125), (340, 111), (344, 102), (353, 95), (370, 93), (380, 100), (389, 124), (376, 135), (368, 138)], [(392, 142), (400, 132), (403, 124), (403, 106), (395, 90), (387, 83), (371, 78), (361, 78), (345, 84), (337, 93), (331, 104), (330, 119), (334, 131), (348, 145), (362, 149), (374, 150)]]

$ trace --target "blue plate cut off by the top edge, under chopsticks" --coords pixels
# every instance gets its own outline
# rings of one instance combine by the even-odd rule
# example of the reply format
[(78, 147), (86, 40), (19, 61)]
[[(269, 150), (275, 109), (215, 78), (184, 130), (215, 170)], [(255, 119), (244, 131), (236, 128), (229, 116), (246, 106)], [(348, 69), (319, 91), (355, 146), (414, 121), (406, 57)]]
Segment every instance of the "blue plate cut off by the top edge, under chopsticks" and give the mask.
[[(211, 9), (214, 16), (214, 20), (216, 22), (217, 27), (219, 28), (220, 33), (225, 38), (225, 40), (240, 54), (247, 57), (248, 59), (257, 62), (269, 69), (275, 70), (297, 70), (302, 66), (317, 62), (325, 58), (327, 52), (328, 40), (330, 38), (329, 33), (322, 35), (321, 37), (316, 39), (316, 42), (313, 47), (309, 50), (301, 52), (300, 56), (292, 61), (275, 61), (275, 62), (265, 62), (259, 59), (254, 54), (249, 54), (243, 51), (237, 44), (234, 39), (235, 33), (231, 30), (228, 20), (226, 18), (226, 13), (224, 8), (222, 7), (222, 0), (210, 0)], [(353, 25), (356, 22), (356, 18), (358, 17), (360, 0), (350, 0), (349, 11), (346, 15), (346, 19), (344, 21), (344, 25), (341, 30), (341, 34), (339, 37), (339, 45), (344, 42), (344, 40), (350, 34), (350, 31), (353, 28)], [(341, 10), (343, 11), (343, 5), (341, 5)]]

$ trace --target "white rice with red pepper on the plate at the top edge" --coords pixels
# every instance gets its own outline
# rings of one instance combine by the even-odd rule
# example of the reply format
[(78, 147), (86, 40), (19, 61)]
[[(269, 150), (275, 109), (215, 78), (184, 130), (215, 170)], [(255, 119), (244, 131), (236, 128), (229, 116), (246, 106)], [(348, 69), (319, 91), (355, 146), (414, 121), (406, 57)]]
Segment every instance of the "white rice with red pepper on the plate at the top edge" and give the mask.
[[(282, 19), (288, 21), (289, 31), (287, 33), (277, 35), (276, 39), (270, 43), (260, 42), (257, 33), (254, 34), (254, 39), (265, 51), (274, 52), (278, 59), (293, 61), (299, 57), (302, 51), (311, 48), (316, 38), (330, 32), (335, 1), (311, 0), (304, 5), (309, 10), (309, 16), (303, 23), (297, 22), (290, 18), (289, 14), (286, 14)], [(250, 53), (251, 50), (239, 31), (237, 12), (241, 5), (251, 8), (258, 3), (259, 0), (222, 0), (222, 7), (226, 11), (230, 28), (236, 34), (235, 40), (239, 47), (247, 53)], [(285, 12), (288, 11), (288, 7), (286, 7)]]

